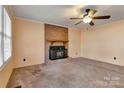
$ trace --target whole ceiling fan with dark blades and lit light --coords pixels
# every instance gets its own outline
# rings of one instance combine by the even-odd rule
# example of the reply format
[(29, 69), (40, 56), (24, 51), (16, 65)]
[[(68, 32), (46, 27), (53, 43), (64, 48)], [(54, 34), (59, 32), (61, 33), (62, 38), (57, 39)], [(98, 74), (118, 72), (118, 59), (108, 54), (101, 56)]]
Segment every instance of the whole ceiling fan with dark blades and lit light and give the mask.
[(84, 23), (88, 23), (90, 26), (94, 26), (95, 24), (94, 24), (93, 20), (96, 20), (96, 19), (109, 19), (111, 17), (110, 15), (94, 16), (94, 14), (97, 12), (97, 10), (94, 10), (94, 9), (86, 9), (85, 12), (86, 12), (86, 14), (83, 15), (83, 17), (81, 17), (81, 18), (75, 17), (75, 18), (70, 18), (70, 19), (71, 20), (81, 19), (81, 21), (79, 21), (75, 25), (78, 25), (81, 22), (84, 22)]

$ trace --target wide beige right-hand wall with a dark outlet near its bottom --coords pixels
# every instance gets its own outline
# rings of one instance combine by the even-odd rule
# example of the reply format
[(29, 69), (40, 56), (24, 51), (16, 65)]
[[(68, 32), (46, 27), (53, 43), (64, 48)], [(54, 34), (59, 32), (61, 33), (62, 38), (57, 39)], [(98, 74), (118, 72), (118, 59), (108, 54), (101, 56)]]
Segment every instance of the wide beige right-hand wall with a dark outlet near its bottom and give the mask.
[(81, 55), (124, 66), (124, 20), (83, 30)]

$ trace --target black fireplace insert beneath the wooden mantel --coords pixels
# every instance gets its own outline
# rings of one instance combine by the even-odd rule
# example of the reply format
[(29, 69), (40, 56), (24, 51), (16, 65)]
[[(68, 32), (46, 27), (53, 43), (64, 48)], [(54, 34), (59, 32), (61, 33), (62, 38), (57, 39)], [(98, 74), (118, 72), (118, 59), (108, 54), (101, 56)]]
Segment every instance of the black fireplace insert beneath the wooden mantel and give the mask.
[(62, 59), (68, 57), (68, 50), (65, 46), (50, 46), (49, 47), (49, 59)]

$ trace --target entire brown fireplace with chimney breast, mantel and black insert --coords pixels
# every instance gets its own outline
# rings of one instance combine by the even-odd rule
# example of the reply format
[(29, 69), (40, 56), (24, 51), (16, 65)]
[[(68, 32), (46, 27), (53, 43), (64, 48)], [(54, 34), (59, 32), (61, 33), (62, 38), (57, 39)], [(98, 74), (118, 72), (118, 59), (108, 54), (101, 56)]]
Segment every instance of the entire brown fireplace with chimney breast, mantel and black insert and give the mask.
[(68, 57), (68, 28), (45, 24), (45, 60)]

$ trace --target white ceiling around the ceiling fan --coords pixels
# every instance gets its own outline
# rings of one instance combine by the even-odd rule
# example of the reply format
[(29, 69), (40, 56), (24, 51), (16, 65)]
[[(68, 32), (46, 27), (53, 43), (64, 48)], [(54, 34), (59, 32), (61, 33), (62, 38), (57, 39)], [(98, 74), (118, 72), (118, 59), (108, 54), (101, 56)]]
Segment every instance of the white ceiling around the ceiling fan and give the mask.
[(84, 23), (75, 26), (79, 20), (72, 21), (69, 18), (81, 17), (86, 8), (98, 10), (95, 16), (111, 15), (108, 20), (95, 20), (96, 26), (124, 19), (124, 5), (14, 5), (12, 8), (16, 17), (79, 29), (90, 26)]

